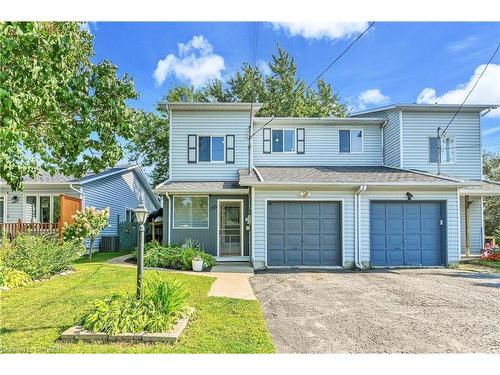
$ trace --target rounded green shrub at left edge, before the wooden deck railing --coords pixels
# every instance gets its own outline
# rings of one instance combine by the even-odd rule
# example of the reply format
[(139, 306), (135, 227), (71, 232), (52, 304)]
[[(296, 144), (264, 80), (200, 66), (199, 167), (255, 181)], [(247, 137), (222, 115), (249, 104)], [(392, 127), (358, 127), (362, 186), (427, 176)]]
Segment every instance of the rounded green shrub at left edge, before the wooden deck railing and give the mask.
[(27, 273), (32, 279), (43, 279), (67, 270), (81, 253), (72, 242), (49, 236), (22, 234), (12, 244), (2, 242), (0, 249), (5, 267)]

